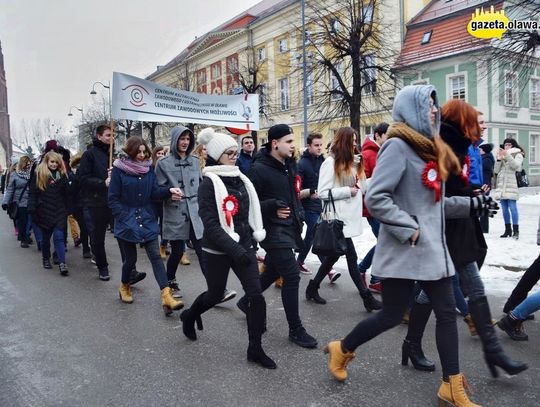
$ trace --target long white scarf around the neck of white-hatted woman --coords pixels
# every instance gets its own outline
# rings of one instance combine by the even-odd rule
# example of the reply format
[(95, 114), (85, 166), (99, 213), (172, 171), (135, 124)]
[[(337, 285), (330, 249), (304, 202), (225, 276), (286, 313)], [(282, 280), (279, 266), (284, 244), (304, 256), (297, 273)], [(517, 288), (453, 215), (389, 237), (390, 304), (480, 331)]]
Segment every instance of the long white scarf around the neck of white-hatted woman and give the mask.
[(257, 196), (257, 191), (251, 183), (248, 177), (240, 172), (240, 168), (234, 165), (214, 165), (211, 167), (205, 167), (203, 170), (203, 175), (208, 177), (214, 184), (214, 194), (216, 196), (216, 205), (218, 208), (219, 223), (223, 230), (227, 232), (235, 242), (240, 241), (240, 236), (234, 231), (234, 222), (231, 222), (231, 226), (227, 225), (225, 221), (225, 213), (223, 212), (222, 206), (224, 199), (229, 195), (225, 184), (220, 177), (239, 177), (249, 196), (249, 214), (248, 214), (248, 223), (251, 229), (253, 230), (253, 238), (257, 242), (261, 242), (266, 237), (266, 231), (264, 230), (262, 214), (261, 214), (261, 204), (259, 202), (259, 197)]

